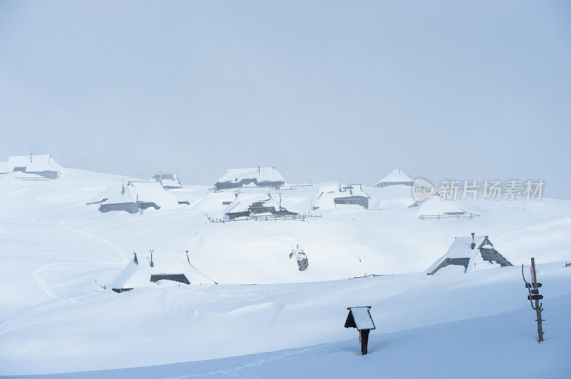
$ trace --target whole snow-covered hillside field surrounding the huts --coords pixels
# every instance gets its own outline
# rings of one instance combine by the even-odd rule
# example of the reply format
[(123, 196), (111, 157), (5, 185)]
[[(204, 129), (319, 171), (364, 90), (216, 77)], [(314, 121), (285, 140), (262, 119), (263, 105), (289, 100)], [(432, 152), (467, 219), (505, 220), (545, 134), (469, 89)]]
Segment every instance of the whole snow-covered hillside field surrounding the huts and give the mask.
[[(74, 169), (51, 181), (0, 175), (0, 374), (571, 377), (571, 201), (526, 202), (524, 213), (521, 201), (465, 200), (458, 206), (479, 217), (419, 219), (398, 189), (363, 187), (370, 209), (225, 223), (208, 217), (223, 215), (232, 190), (185, 186), (171, 192), (189, 204), (143, 214), (86, 205), (123, 180)], [(308, 212), (324, 185), (333, 184), (281, 196)], [(421, 274), (471, 232), (514, 266)], [(289, 257), (296, 244), (305, 271)], [(188, 251), (218, 284), (111, 291), (133, 251), (150, 249)], [(541, 344), (521, 278), (531, 256), (545, 296)], [(378, 276), (349, 279), (365, 274)], [(362, 305), (377, 327), (365, 356), (343, 328), (346, 308)]]

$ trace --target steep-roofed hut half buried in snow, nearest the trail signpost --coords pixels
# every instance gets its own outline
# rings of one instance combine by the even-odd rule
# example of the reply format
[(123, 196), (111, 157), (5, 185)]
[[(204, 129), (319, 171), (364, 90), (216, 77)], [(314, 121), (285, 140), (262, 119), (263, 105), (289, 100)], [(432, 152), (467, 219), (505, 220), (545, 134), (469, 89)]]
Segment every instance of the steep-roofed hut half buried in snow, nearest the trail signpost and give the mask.
[(487, 236), (456, 237), (450, 249), (424, 271), (427, 275), (465, 274), (512, 266)]

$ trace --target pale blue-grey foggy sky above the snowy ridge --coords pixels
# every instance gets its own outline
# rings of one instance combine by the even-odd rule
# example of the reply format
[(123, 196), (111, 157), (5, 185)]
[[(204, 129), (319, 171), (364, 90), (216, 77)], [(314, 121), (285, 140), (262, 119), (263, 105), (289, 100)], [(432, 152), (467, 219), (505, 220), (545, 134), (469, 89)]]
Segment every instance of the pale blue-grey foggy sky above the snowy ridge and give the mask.
[(571, 4), (401, 3), (1, 1), (0, 161), (204, 185), (400, 167), (570, 199)]

